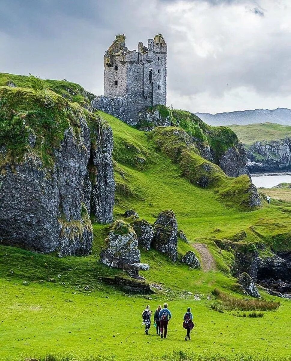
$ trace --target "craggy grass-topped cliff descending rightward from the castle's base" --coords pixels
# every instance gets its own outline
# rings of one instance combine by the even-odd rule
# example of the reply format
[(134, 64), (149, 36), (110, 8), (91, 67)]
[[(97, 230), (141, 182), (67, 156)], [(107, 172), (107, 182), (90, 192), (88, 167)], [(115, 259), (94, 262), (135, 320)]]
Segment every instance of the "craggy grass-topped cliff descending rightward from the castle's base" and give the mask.
[(164, 105), (156, 105), (139, 113), (138, 128), (151, 131), (158, 126), (183, 128), (201, 157), (220, 166), (229, 177), (249, 175), (245, 148), (228, 127), (212, 127), (195, 114)]

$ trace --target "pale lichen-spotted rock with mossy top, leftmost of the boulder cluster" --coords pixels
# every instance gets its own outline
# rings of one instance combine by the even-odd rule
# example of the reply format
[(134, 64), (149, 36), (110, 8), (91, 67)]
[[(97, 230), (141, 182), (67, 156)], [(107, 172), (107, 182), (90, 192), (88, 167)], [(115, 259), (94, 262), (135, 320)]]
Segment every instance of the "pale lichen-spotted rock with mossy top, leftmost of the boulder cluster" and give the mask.
[(140, 263), (138, 239), (135, 231), (121, 220), (113, 223), (106, 239), (105, 248), (100, 253), (102, 263), (107, 266), (129, 271), (147, 270), (149, 265)]

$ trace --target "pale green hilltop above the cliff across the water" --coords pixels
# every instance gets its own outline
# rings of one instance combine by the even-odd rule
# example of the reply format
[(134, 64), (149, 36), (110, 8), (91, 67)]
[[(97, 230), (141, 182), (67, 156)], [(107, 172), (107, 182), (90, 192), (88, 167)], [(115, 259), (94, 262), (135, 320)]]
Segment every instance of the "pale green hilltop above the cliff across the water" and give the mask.
[(291, 126), (275, 123), (260, 123), (248, 125), (230, 125), (238, 139), (246, 145), (261, 140), (278, 140), (291, 136)]

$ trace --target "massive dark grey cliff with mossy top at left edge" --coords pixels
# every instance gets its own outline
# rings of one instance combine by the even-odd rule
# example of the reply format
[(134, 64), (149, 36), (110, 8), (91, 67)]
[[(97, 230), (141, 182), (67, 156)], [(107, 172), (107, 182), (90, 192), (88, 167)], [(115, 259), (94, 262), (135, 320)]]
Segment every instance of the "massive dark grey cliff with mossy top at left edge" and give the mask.
[(90, 252), (90, 215), (112, 221), (112, 131), (50, 92), (0, 87), (0, 243)]

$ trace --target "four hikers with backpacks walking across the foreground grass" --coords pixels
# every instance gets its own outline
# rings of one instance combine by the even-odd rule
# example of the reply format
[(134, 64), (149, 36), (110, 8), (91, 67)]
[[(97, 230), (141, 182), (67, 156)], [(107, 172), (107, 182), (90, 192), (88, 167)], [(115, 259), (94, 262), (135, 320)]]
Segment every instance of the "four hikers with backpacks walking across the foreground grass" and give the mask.
[[(143, 325), (145, 325), (145, 334), (148, 335), (149, 328), (151, 327), (151, 317), (152, 311), (149, 308), (149, 305), (146, 306), (145, 310), (143, 310), (142, 318), (143, 318)], [(156, 327), (157, 335), (161, 336), (161, 338), (167, 338), (167, 328), (170, 319), (172, 318), (172, 314), (168, 309), (168, 304), (164, 303), (164, 308), (161, 305), (158, 305), (157, 309), (155, 310), (154, 314), (154, 321)], [(187, 335), (185, 336), (185, 341), (190, 340), (190, 331), (194, 327), (193, 323), (193, 315), (191, 313), (191, 308), (187, 308), (187, 312), (184, 314), (183, 317), (183, 327), (187, 330)]]

